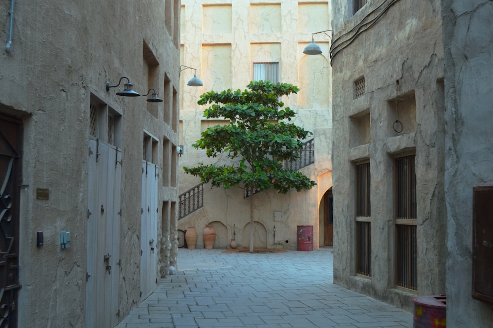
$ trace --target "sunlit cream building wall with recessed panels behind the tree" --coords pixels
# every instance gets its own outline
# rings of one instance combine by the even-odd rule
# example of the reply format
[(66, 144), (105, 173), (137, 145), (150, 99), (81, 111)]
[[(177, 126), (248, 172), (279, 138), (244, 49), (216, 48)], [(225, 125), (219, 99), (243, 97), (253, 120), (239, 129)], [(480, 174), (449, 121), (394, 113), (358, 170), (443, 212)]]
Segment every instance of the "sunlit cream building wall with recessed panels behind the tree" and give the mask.
[[(255, 227), (256, 244), (296, 249), (296, 225), (314, 225), (317, 248), (318, 204), (332, 185), (329, 37), (315, 36), (323, 49), (322, 55), (304, 55), (303, 48), (311, 41), (312, 33), (330, 29), (330, 4), (328, 1), (290, 0), (216, 0), (213, 3), (183, 0), (181, 4), (181, 64), (197, 69), (204, 86), (186, 86), (194, 72), (190, 69), (181, 72), (180, 138), (185, 153), (179, 159), (179, 167), (222, 160), (208, 159), (205, 151), (192, 147), (208, 125), (203, 122), (205, 108), (197, 105), (200, 94), (228, 88), (243, 90), (252, 79), (253, 62), (279, 62), (279, 80), (300, 87), (298, 94), (284, 97), (282, 101), (297, 112), (294, 120), (297, 125), (314, 132), (315, 164), (303, 168), (302, 172), (318, 184), (300, 193), (280, 195), (271, 190), (254, 195), (254, 220), (259, 222)], [(198, 178), (180, 170), (180, 192), (199, 182)], [(320, 186), (324, 190), (320, 190)], [(204, 189), (204, 208), (181, 219), (178, 227), (186, 229), (194, 225), (199, 232), (197, 247), (203, 247), (201, 231), (206, 224), (214, 222), (218, 231), (214, 247), (227, 247), (233, 232), (239, 246), (247, 247), (249, 198), (244, 199), (240, 189), (211, 189), (210, 185)]]

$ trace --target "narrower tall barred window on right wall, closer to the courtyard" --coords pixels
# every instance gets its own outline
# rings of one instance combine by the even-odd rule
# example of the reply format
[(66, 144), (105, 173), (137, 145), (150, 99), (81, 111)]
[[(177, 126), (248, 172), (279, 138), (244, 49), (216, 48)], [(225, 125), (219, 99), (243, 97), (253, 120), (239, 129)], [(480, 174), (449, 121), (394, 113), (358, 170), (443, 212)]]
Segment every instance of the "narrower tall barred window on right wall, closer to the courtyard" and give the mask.
[(355, 185), (356, 273), (371, 277), (370, 163), (356, 165)]

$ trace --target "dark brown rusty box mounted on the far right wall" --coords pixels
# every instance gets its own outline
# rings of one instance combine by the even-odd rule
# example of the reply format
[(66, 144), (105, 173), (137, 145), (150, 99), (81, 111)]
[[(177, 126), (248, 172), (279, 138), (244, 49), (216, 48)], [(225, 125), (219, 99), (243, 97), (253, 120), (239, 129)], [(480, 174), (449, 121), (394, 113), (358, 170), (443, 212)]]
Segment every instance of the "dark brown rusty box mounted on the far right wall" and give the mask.
[(493, 303), (493, 184), (473, 187), (472, 297)]

